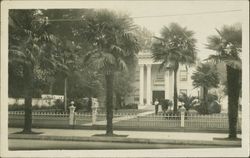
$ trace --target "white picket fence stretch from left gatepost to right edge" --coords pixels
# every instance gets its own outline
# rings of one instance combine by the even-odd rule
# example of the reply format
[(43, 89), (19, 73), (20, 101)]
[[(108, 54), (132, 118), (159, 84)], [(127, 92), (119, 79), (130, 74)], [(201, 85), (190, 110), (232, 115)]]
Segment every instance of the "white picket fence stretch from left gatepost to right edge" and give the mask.
[[(106, 125), (106, 113), (97, 113), (96, 120), (93, 121), (91, 113), (76, 113), (76, 125)], [(228, 129), (227, 114), (167, 114), (167, 115), (140, 115), (131, 113), (113, 114), (113, 124), (115, 127), (131, 128), (192, 128), (192, 129)], [(237, 129), (241, 130), (241, 115), (238, 117)]]

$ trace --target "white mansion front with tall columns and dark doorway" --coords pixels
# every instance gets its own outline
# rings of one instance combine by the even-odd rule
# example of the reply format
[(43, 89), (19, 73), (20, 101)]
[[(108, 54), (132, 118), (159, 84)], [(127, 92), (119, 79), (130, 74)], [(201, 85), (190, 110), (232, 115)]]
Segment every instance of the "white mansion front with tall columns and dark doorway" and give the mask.
[[(140, 52), (136, 67), (135, 90), (125, 102), (136, 103), (140, 109), (153, 105), (155, 99), (173, 101), (174, 73), (170, 70), (159, 70), (160, 62), (154, 62), (151, 52)], [(187, 95), (200, 96), (199, 89), (192, 86), (191, 75), (195, 67), (180, 65), (177, 72), (177, 90)]]

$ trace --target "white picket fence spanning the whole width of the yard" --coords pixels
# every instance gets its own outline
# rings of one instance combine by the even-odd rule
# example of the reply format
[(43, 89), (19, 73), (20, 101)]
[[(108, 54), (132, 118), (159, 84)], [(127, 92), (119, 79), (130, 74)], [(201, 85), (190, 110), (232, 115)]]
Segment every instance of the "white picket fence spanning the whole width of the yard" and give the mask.
[[(70, 119), (74, 119), (73, 125), (92, 126), (106, 125), (106, 113), (70, 113), (59, 112), (32, 112), (33, 124), (61, 124), (69, 125)], [(10, 111), (9, 122), (23, 121), (24, 112)], [(238, 117), (237, 129), (241, 131), (241, 115)], [(71, 124), (72, 125), (72, 124)], [(136, 114), (136, 113), (116, 113), (113, 114), (114, 127), (143, 128), (143, 129), (170, 129), (170, 128), (189, 128), (189, 129), (228, 129), (227, 114)]]

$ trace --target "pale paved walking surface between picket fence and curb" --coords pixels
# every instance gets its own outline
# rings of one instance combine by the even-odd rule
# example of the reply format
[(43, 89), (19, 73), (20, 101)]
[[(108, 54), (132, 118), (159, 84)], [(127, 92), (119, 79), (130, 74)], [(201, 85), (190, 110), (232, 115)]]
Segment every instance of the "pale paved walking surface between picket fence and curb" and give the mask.
[[(16, 134), (13, 134), (15, 132), (19, 132), (22, 129), (20, 128), (9, 128), (9, 136), (17, 136)], [(63, 139), (68, 140), (68, 138), (87, 138), (88, 141), (90, 141), (93, 137), (93, 135), (100, 135), (105, 134), (105, 130), (76, 130), (76, 129), (33, 129), (35, 132), (42, 132), (42, 134), (38, 136), (48, 136), (50, 138), (54, 137), (61, 137)], [(148, 132), (148, 131), (114, 131), (115, 134), (118, 135), (126, 135), (127, 137), (122, 138), (123, 140), (127, 139), (129, 141), (140, 141), (140, 140), (157, 140), (156, 142), (164, 142), (167, 141), (173, 142), (194, 142), (195, 144), (201, 143), (201, 144), (214, 144), (214, 143), (221, 143), (228, 144), (230, 143), (236, 143), (237, 145), (240, 145), (241, 141), (218, 141), (213, 140), (213, 138), (226, 138), (227, 134), (221, 134), (221, 133), (191, 133), (191, 132)], [(28, 135), (29, 137), (29, 135)], [(28, 138), (24, 137), (24, 138)], [(238, 135), (239, 138), (241, 138), (241, 135)], [(12, 137), (14, 138), (14, 137)], [(44, 139), (44, 138), (43, 138)], [(45, 138), (46, 139), (46, 138)], [(110, 140), (112, 138), (105, 138), (105, 140)], [(75, 139), (74, 139), (75, 140)], [(85, 140), (85, 139), (84, 139)], [(121, 141), (121, 139), (120, 139)]]

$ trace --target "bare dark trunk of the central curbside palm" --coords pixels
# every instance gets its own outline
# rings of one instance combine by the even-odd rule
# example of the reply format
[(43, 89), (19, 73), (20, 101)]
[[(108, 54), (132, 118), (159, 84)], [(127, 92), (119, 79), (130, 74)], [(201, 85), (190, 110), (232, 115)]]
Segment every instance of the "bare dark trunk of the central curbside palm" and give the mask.
[(106, 110), (107, 127), (106, 135), (113, 135), (113, 80), (114, 74), (108, 74), (106, 78)]

